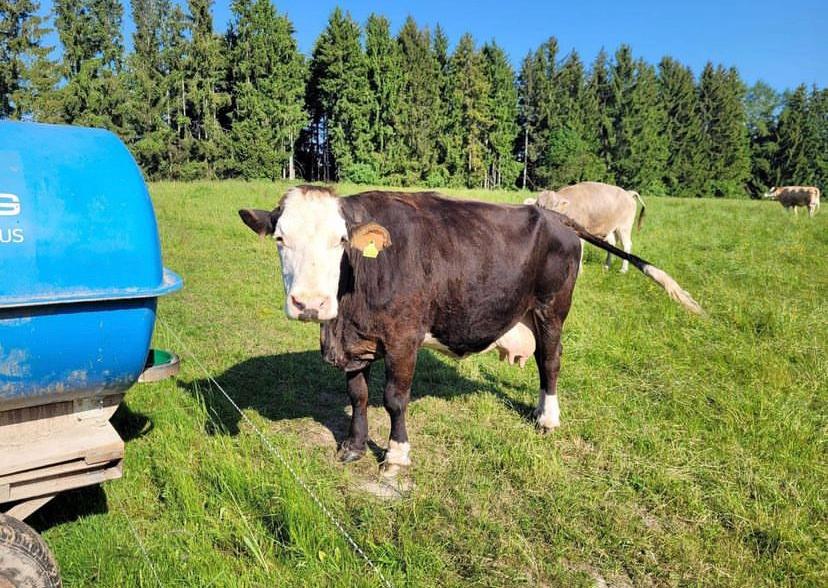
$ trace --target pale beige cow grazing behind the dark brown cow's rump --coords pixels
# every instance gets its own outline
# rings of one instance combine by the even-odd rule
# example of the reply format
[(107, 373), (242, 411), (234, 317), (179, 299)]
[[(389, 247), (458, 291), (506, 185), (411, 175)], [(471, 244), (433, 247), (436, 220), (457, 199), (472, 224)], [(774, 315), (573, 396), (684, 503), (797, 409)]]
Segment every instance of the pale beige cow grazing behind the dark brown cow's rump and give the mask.
[[(568, 186), (557, 192), (546, 190), (537, 198), (537, 204), (549, 210), (560, 212), (582, 225), (587, 231), (606, 239), (615, 245), (615, 239), (621, 241), (621, 247), (629, 253), (632, 251), (632, 228), (635, 223), (635, 201), (641, 203), (638, 215), (638, 228), (644, 220), (644, 201), (638, 192), (624, 190), (600, 182), (581, 182)], [(534, 199), (527, 199), (524, 204), (534, 204)], [(605, 266), (612, 264), (612, 254), (607, 254)], [(621, 271), (629, 267), (627, 260), (621, 263)]]

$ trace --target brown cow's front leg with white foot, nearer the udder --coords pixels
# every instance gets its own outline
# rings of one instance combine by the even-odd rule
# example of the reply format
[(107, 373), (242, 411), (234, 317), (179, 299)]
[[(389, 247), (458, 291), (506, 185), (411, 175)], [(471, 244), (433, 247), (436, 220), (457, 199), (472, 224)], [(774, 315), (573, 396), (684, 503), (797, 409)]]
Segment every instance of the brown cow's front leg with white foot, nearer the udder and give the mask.
[[(389, 350), (390, 351), (390, 350)], [(405, 412), (411, 397), (411, 382), (417, 362), (417, 345), (406, 345), (389, 352), (385, 357), (385, 410), (391, 417), (391, 435), (388, 450), (380, 470), (386, 476), (395, 476), (400, 468), (411, 465), (408, 432), (405, 429)]]

